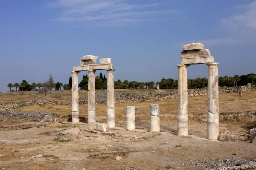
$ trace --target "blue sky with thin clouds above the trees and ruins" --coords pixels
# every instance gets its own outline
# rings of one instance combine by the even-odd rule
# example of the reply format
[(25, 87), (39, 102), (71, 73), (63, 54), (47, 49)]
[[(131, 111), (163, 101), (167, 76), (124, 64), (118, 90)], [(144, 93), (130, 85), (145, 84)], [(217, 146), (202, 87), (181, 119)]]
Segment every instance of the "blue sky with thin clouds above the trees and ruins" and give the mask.
[[(220, 62), (219, 76), (256, 73), (256, 0), (0, 0), (0, 91), (50, 74), (68, 83), (85, 54), (112, 58), (115, 80), (177, 79), (192, 42)], [(188, 77), (207, 77), (207, 66)]]

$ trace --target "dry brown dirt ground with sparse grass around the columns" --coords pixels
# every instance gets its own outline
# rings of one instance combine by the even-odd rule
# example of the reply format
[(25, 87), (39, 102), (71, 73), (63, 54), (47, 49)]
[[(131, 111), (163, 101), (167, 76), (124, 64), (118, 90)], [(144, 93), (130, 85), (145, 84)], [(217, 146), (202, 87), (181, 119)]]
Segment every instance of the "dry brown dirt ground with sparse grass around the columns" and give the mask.
[[(143, 92), (143, 91), (140, 91)], [(148, 92), (148, 91), (147, 91)], [(0, 96), (0, 102), (41, 99), (35, 92), (27, 95)], [(64, 92), (63, 92), (64, 93)], [(70, 101), (70, 94), (66, 95)], [(238, 119), (237, 113), (256, 110), (256, 91), (238, 94), (220, 94), (220, 133), (230, 130), (247, 133), (255, 120)], [(46, 98), (47, 99), (47, 98)], [(50, 96), (48, 97), (50, 99)], [(189, 137), (177, 136), (177, 99), (116, 104), (116, 126), (125, 127), (125, 108), (134, 105), (136, 128), (150, 129), (150, 104), (160, 104), (160, 125), (163, 133), (131, 132), (111, 129), (108, 134), (89, 132), (86, 123), (47, 123), (43, 127), (20, 130), (0, 130), (0, 169), (10, 170), (119, 170), (126, 167), (140, 169), (207, 169), (197, 164), (225, 158), (252, 161), (256, 159), (256, 141), (219, 142), (207, 136), (207, 96), (189, 97)], [(141, 106), (141, 107), (139, 107)], [(51, 111), (70, 115), (71, 105), (23, 106), (22, 111)], [(87, 116), (87, 105), (80, 105), (80, 115)], [(98, 122), (106, 122), (106, 106), (96, 105)], [(245, 121), (246, 120), (246, 121)], [(22, 123), (22, 122), (17, 122)], [(0, 122), (0, 125), (6, 125)], [(67, 140), (66, 140), (67, 139)], [(111, 147), (107, 147), (107, 145)], [(31, 159), (35, 155), (41, 158)], [(115, 160), (116, 156), (122, 160)], [(192, 164), (192, 163), (193, 164)], [(252, 167), (250, 167), (253, 169)], [(208, 167), (208, 169), (211, 169)]]

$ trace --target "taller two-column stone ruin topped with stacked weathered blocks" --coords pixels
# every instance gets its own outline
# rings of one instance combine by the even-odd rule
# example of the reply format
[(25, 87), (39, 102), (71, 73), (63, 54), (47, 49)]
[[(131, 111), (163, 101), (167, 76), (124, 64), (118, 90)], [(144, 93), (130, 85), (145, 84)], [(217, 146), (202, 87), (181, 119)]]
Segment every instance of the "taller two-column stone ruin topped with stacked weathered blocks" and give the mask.
[(181, 64), (177, 65), (178, 73), (178, 135), (188, 136), (188, 76), (189, 65), (206, 64), (208, 66), (208, 119), (207, 138), (218, 139), (219, 106), (218, 106), (218, 62), (204, 45), (195, 42), (184, 45), (181, 52)]

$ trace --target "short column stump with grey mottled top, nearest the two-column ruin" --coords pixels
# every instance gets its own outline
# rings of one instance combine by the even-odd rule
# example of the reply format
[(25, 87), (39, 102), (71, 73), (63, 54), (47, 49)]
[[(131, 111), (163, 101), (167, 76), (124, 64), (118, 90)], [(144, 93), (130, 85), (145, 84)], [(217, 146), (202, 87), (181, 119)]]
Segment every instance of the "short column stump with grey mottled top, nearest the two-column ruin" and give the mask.
[(150, 131), (160, 132), (160, 108), (158, 104), (150, 105)]

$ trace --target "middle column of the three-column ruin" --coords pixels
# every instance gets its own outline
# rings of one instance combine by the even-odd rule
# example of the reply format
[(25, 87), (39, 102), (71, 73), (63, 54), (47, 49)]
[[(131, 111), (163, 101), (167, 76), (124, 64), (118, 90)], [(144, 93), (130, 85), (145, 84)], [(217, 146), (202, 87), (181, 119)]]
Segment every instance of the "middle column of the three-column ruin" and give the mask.
[(96, 122), (95, 113), (95, 71), (88, 70), (89, 83), (88, 83), (88, 123)]

